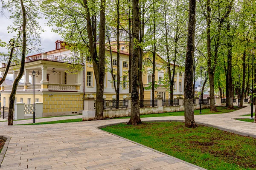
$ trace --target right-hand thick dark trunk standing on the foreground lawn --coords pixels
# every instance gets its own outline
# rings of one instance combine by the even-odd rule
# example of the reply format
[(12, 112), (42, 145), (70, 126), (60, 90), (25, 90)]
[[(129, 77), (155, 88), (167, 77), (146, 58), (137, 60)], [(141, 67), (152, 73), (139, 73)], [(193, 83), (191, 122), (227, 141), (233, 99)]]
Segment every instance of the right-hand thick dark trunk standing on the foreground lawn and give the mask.
[(188, 38), (186, 49), (186, 63), (185, 63), (185, 126), (197, 127), (194, 119), (194, 105), (193, 105), (193, 65), (194, 65), (194, 50), (195, 50), (195, 7), (196, 0), (189, 0), (189, 23), (188, 23)]

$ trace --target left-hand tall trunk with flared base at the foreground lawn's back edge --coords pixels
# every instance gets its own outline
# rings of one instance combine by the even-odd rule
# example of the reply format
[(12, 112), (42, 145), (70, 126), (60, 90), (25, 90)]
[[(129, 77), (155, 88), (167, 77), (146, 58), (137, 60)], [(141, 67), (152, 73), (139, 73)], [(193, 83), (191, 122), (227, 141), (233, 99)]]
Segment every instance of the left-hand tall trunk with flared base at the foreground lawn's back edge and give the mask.
[(139, 105), (139, 55), (140, 47), (140, 12), (139, 0), (132, 0), (132, 13), (133, 13), (133, 31), (132, 31), (132, 56), (131, 56), (131, 119), (129, 125), (141, 124), (140, 120), (140, 105)]

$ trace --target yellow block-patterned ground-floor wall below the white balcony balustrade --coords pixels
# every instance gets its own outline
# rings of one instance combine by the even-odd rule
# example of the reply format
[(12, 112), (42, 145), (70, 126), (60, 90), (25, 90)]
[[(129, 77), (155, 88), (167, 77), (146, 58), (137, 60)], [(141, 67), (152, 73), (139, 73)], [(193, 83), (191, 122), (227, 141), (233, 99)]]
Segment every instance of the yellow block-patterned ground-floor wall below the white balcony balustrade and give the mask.
[(83, 110), (83, 94), (43, 95), (43, 113), (79, 112)]

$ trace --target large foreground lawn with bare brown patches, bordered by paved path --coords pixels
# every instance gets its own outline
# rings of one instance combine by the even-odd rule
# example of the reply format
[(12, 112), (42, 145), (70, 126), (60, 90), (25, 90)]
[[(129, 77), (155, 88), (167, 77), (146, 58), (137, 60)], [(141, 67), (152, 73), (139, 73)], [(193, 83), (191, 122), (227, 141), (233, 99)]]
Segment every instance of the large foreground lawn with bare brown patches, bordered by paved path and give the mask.
[(102, 130), (138, 142), (208, 170), (255, 170), (256, 139), (182, 122), (114, 125)]

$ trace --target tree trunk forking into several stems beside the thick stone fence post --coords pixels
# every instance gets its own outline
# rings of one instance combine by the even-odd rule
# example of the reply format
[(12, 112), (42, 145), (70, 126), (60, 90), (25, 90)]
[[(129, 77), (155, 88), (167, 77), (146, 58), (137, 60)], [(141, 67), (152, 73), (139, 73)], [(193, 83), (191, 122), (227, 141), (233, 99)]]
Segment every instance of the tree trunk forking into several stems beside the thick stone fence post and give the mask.
[[(95, 3), (95, 1), (94, 1)], [(97, 20), (93, 14), (92, 23), (90, 18), (90, 10), (87, 0), (84, 0), (84, 8), (87, 11), (87, 34), (89, 39), (89, 52), (93, 61), (94, 77), (96, 79), (96, 105), (95, 105), (95, 118), (94, 120), (103, 119), (103, 92), (104, 92), (104, 77), (105, 77), (105, 0), (100, 1), (99, 12), (99, 56), (97, 54), (96, 31)], [(112, 62), (112, 61), (111, 61)]]

